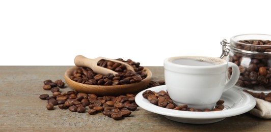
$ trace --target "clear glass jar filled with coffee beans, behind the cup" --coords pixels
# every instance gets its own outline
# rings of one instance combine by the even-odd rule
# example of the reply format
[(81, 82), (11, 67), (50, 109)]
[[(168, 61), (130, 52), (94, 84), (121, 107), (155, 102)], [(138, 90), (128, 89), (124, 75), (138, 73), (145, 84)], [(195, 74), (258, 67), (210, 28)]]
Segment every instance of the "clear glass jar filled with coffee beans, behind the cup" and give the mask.
[[(238, 65), (240, 77), (235, 86), (255, 93), (271, 92), (271, 36), (237, 35), (230, 39), (227, 61)], [(231, 76), (231, 69), (228, 76)]]

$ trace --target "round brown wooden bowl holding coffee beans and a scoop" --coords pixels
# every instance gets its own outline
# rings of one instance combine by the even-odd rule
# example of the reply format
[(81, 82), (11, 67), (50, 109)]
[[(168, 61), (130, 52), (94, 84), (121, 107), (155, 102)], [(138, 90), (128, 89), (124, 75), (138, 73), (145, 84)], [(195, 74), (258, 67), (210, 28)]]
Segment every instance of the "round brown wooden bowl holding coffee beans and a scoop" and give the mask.
[(104, 85), (89, 85), (89, 84), (83, 84), (78, 83), (70, 79), (70, 76), (72, 75), (73, 71), (76, 69), (76, 66), (68, 69), (65, 72), (64, 79), (66, 83), (74, 90), (77, 90), (79, 92), (84, 93), (94, 93), (96, 95), (122, 95), (126, 93), (136, 93), (140, 92), (144, 89), (146, 89), (147, 85), (151, 81), (152, 73), (149, 69), (144, 67), (144, 70), (147, 73), (147, 77), (144, 78), (142, 81), (137, 83), (131, 83), (131, 84), (123, 84), (123, 85), (110, 85), (110, 86), (104, 86)]

